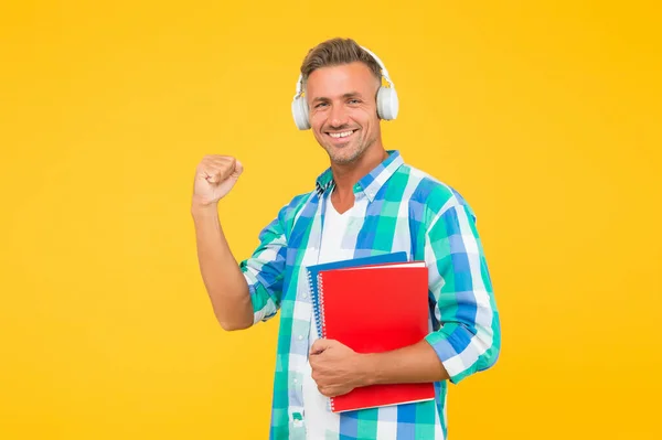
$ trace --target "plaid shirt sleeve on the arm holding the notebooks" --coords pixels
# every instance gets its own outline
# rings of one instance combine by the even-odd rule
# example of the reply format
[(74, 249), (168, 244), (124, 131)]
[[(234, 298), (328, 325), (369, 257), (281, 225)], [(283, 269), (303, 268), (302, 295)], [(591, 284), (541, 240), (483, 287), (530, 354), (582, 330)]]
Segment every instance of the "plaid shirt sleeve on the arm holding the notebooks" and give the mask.
[(433, 219), (425, 242), (439, 326), (426, 341), (457, 384), (490, 368), (501, 346), (499, 313), (470, 207), (451, 201)]

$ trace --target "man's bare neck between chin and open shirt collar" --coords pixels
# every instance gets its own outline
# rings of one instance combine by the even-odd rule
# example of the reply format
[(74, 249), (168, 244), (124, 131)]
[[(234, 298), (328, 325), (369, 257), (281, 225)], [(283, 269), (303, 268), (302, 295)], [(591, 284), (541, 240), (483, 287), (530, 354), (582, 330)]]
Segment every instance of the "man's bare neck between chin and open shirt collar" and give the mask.
[(339, 165), (331, 164), (333, 180), (335, 181), (335, 190), (333, 190), (334, 204), (351, 207), (354, 204), (354, 185), (375, 167), (382, 163), (388, 153), (383, 147), (371, 148), (369, 151), (359, 158), (355, 162)]

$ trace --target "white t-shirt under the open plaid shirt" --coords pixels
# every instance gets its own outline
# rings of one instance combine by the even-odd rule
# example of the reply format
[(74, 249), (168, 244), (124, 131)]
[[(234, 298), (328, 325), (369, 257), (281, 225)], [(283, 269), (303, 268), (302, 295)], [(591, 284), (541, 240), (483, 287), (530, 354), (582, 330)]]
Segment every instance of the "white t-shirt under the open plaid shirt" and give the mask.
[[(327, 211), (324, 216), (324, 226), (322, 229), (322, 243), (320, 245), (319, 264), (338, 261), (346, 259), (346, 253), (342, 251), (342, 236), (348, 227), (348, 222), (352, 210), (342, 215), (335, 211), (331, 196), (327, 198)], [(309, 347), (319, 339), (314, 316), (310, 321)], [(324, 432), (330, 429), (332, 432), (340, 431), (340, 416), (331, 412), (328, 407), (329, 398), (323, 396), (316, 382), (311, 377), (310, 364), (307, 363), (307, 371), (303, 374), (303, 417), (306, 419), (307, 439), (324, 440)]]

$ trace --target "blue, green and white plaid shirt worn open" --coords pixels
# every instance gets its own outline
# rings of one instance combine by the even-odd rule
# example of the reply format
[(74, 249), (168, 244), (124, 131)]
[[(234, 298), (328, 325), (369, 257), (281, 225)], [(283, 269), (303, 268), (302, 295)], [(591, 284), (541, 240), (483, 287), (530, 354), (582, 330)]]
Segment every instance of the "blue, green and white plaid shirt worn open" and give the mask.
[[(359, 181), (355, 208), (342, 238), (348, 258), (407, 251), (429, 270), (430, 333), (426, 337), (457, 384), (494, 364), (500, 323), (474, 215), (451, 187), (404, 163), (399, 152)], [(280, 311), (270, 439), (306, 439), (302, 372), (312, 305), (306, 267), (317, 264), (325, 203), (334, 184), (328, 169), (316, 190), (284, 206), (259, 234), (259, 246), (241, 262), (254, 323)], [(447, 382), (430, 401), (342, 412), (340, 432), (327, 439), (447, 437)]]

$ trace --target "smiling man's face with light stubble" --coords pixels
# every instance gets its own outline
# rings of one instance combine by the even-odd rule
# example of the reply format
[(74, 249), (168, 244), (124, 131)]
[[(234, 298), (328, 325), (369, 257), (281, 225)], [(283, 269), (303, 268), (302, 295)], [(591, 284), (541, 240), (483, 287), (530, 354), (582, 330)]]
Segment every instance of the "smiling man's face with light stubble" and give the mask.
[(381, 139), (380, 81), (365, 64), (319, 68), (306, 85), (312, 132), (332, 162), (351, 163)]

